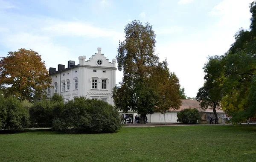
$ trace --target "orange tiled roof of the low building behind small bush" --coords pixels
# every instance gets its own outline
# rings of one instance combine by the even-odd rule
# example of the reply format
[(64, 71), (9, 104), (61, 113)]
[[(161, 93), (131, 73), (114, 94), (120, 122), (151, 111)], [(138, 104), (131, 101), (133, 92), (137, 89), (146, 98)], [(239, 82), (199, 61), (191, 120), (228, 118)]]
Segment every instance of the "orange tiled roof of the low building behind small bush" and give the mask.
[[(199, 106), (199, 102), (196, 100), (181, 100), (181, 101), (182, 101), (182, 104), (178, 110), (173, 110), (173, 108), (170, 108), (169, 110), (170, 111), (181, 111), (181, 110), (188, 109), (188, 108), (197, 108), (200, 112), (213, 113), (212, 109), (209, 109), (209, 108), (206, 110), (201, 109)], [(216, 109), (216, 112), (224, 113), (224, 111), (221, 109)]]

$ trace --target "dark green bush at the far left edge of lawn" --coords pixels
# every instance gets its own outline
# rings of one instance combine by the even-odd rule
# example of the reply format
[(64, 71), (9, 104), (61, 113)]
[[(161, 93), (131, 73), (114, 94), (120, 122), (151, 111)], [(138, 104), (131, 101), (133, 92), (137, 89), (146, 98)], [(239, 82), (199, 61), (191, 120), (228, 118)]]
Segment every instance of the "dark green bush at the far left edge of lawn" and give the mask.
[(20, 101), (0, 94), (0, 129), (22, 130), (29, 126), (29, 112)]

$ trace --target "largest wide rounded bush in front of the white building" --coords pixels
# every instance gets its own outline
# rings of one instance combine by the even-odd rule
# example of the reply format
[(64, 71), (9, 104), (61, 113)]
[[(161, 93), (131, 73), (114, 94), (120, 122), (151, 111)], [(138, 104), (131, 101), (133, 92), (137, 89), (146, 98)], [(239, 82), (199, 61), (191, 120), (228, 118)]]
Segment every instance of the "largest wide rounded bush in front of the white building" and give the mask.
[(69, 127), (73, 133), (113, 133), (121, 122), (118, 111), (107, 102), (79, 97), (65, 104), (52, 130), (67, 132)]

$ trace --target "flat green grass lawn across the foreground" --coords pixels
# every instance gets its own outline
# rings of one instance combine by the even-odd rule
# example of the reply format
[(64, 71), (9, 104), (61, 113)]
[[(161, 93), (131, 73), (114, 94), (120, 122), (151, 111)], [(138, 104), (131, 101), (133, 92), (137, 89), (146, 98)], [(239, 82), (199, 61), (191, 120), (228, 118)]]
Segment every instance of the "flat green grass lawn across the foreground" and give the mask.
[(0, 134), (0, 161), (252, 162), (256, 124), (123, 127), (113, 134)]

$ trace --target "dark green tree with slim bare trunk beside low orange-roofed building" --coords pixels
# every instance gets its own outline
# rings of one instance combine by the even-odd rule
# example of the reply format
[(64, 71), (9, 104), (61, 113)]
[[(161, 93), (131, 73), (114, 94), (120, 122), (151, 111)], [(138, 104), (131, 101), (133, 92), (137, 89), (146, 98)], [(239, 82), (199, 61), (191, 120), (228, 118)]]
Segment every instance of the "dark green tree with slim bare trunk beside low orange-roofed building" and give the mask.
[(204, 86), (198, 90), (196, 100), (200, 102), (199, 105), (202, 109), (211, 108), (215, 118), (218, 119), (216, 108), (220, 107), (221, 85), (224, 79), (222, 57), (216, 55), (208, 59), (209, 61), (204, 65)]

